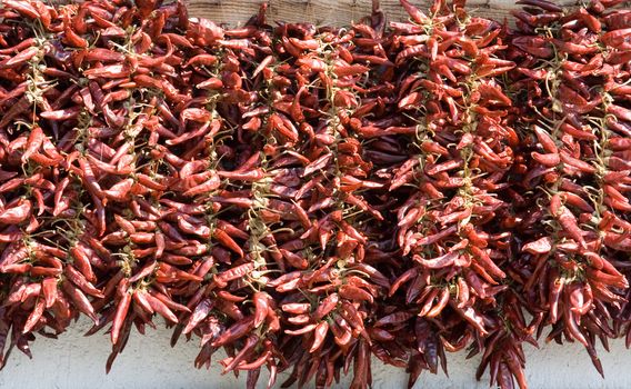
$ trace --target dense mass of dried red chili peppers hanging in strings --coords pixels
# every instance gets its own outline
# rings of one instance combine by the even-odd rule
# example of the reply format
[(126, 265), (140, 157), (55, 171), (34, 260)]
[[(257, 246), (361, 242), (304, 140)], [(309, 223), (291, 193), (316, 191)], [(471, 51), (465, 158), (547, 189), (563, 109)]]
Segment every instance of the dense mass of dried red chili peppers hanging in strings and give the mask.
[[(162, 317), (224, 372), (371, 360), (525, 388), (523, 342), (631, 346), (631, 10), (373, 1), (241, 28), (182, 1), (0, 9), (0, 365)], [(136, 329), (136, 330), (134, 330)]]

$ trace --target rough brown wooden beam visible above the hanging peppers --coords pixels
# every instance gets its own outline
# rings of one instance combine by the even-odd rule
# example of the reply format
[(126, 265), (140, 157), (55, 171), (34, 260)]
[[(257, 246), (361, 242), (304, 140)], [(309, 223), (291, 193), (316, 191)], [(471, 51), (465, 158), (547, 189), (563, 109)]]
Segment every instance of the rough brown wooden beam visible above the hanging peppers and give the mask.
[[(207, 18), (229, 26), (243, 24), (254, 14), (262, 0), (187, 0), (191, 17)], [(424, 9), (428, 1), (411, 0)], [(577, 0), (557, 0), (560, 6), (573, 6)], [(316, 24), (348, 26), (354, 20), (370, 14), (371, 0), (268, 0), (270, 21), (300, 22)], [(468, 7), (474, 13), (503, 20), (511, 9), (521, 6), (510, 0), (469, 0)], [(388, 20), (405, 20), (407, 16), (399, 6), (399, 0), (381, 0), (381, 8)]]

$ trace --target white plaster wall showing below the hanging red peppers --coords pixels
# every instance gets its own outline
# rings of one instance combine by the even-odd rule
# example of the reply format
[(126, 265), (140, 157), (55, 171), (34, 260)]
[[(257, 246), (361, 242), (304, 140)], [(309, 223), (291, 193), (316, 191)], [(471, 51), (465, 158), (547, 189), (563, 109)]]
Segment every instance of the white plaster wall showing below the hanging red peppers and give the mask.
[[(246, 375), (236, 379), (221, 376), (216, 355), (210, 370), (197, 370), (193, 360), (197, 341), (181, 341), (169, 346), (170, 330), (150, 330), (146, 336), (132, 333), (127, 349), (106, 375), (104, 363), (110, 351), (109, 337), (101, 333), (83, 337), (89, 323), (84, 320), (59, 339), (38, 338), (32, 343), (33, 359), (13, 351), (4, 370), (0, 372), (2, 389), (232, 389), (243, 388)], [(527, 346), (527, 376), (530, 388), (631, 388), (631, 350), (622, 340), (612, 342), (611, 352), (600, 351), (605, 370), (603, 380), (592, 368), (588, 355), (577, 345), (542, 345), (537, 350)], [(488, 388), (487, 377), (475, 382), (478, 359), (465, 360), (463, 353), (449, 355), (449, 378), (444, 375), (421, 375), (415, 388)], [(385, 368), (373, 361), (374, 388), (405, 388), (407, 375), (402, 370)], [(267, 376), (261, 375), (262, 381)], [(282, 382), (283, 377), (279, 381)], [(349, 381), (338, 388), (348, 387)]]

